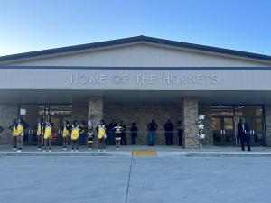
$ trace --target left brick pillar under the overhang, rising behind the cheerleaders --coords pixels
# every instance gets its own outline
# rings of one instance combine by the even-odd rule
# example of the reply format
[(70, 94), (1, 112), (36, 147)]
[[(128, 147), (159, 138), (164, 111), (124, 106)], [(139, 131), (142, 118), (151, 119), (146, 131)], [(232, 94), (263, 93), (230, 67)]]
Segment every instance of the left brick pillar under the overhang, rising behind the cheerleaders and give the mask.
[(89, 98), (89, 120), (94, 129), (99, 125), (99, 121), (103, 119), (104, 101), (103, 97)]

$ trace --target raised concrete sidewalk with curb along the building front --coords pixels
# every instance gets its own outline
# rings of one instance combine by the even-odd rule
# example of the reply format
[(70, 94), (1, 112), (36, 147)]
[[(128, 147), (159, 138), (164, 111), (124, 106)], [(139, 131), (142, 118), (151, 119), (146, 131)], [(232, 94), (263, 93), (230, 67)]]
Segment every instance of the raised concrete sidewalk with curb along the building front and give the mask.
[(52, 146), (51, 152), (38, 151), (34, 146), (24, 146), (23, 152), (14, 152), (10, 146), (0, 146), (0, 156), (132, 156), (133, 150), (154, 150), (158, 157), (182, 156), (182, 157), (228, 157), (228, 156), (271, 156), (271, 147), (252, 147), (252, 151), (241, 151), (239, 147), (208, 146), (202, 150), (186, 150), (179, 146), (121, 146), (117, 151), (115, 146), (107, 146), (106, 152), (98, 152), (98, 149), (88, 150), (81, 146), (79, 152), (63, 151), (60, 146)]

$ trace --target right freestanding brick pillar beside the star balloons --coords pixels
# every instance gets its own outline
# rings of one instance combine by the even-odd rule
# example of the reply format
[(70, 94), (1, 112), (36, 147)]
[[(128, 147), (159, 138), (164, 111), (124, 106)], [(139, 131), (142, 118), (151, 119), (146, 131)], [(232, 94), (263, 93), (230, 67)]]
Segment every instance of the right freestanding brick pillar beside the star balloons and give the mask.
[(198, 149), (199, 130), (195, 123), (198, 117), (198, 100), (195, 97), (182, 97), (182, 126), (185, 149)]

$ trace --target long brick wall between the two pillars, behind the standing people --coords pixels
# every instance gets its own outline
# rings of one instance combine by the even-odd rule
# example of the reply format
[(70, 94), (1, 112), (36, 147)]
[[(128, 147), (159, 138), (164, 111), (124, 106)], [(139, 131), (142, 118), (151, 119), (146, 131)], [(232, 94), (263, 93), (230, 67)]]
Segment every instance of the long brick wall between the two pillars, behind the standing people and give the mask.
[[(132, 122), (137, 123), (138, 137), (137, 144), (147, 144), (147, 125), (152, 119), (158, 125), (156, 144), (165, 144), (164, 139), (164, 123), (167, 119), (171, 119), (173, 125), (177, 125), (177, 121), (182, 117), (182, 106), (180, 104), (166, 103), (105, 103), (104, 115), (107, 124), (112, 119), (116, 121), (123, 120), (126, 125), (127, 144), (131, 143), (129, 129)], [(173, 132), (173, 144), (178, 143), (176, 129)]]

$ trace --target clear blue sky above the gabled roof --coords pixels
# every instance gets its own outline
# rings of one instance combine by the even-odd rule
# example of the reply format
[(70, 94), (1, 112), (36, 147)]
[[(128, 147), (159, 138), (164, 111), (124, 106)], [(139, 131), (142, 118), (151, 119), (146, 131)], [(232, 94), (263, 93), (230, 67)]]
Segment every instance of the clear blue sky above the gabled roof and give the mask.
[(271, 1), (0, 0), (0, 56), (136, 35), (271, 55)]

